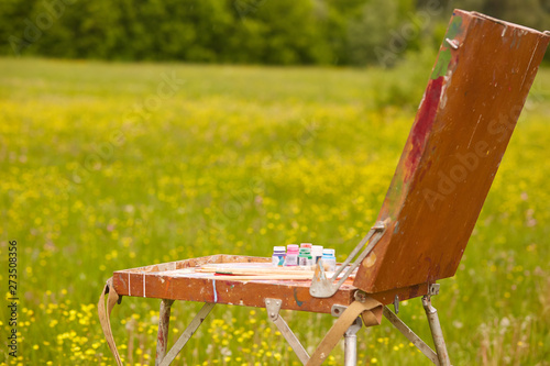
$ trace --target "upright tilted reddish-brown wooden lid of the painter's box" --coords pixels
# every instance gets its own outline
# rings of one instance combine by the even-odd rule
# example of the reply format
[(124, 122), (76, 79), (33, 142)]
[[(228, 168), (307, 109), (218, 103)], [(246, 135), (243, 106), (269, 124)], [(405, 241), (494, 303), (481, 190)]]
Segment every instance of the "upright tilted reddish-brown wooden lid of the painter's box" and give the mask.
[(451, 277), (550, 37), (455, 10), (354, 285), (367, 292)]

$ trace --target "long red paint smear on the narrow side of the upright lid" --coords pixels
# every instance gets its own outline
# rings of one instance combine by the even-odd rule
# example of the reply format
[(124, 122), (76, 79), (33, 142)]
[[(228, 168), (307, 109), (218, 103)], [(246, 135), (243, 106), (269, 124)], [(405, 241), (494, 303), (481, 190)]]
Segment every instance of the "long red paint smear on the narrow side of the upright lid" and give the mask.
[(418, 109), (415, 125), (413, 126), (413, 131), (410, 131), (409, 141), (410, 144), (413, 144), (413, 147), (407, 154), (407, 158), (405, 160), (405, 182), (409, 180), (420, 162), (427, 134), (431, 130), (433, 121), (436, 120), (442, 89), (442, 76), (437, 79), (430, 79), (428, 82), (422, 104)]

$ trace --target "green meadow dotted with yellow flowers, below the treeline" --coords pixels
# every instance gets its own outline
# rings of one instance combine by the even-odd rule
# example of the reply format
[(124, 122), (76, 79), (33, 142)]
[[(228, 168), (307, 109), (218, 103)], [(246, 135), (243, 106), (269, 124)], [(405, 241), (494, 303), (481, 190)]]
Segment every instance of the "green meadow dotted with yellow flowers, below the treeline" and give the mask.
[[(0, 363), (113, 365), (96, 311), (113, 270), (295, 242), (343, 259), (374, 223), (430, 66), (8, 58), (0, 70), (0, 284), (6, 293), (16, 240), (20, 298), (19, 357), (2, 302)], [(454, 365), (550, 365), (549, 86), (543, 69), (459, 271), (433, 299)], [(158, 306), (124, 298), (113, 311), (128, 364), (153, 363)], [(172, 341), (197, 309), (174, 304)], [(419, 299), (399, 314), (428, 337)], [(309, 351), (333, 322), (284, 315)], [(359, 342), (361, 364), (429, 365), (387, 321)], [(215, 308), (178, 357), (298, 365), (264, 310), (238, 307)], [(337, 347), (328, 364), (342, 363)]]

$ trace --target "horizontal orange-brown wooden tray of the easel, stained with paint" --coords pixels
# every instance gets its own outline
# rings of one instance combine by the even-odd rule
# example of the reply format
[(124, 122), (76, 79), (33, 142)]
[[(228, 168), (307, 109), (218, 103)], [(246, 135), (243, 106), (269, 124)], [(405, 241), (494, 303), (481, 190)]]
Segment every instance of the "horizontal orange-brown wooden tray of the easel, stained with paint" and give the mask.
[[(212, 273), (195, 271), (195, 268), (200, 268), (204, 265), (231, 264), (234, 266), (234, 264), (242, 263), (256, 268), (268, 268), (271, 258), (220, 254), (118, 270), (113, 274), (113, 286), (121, 296), (244, 307), (263, 308), (265, 307), (264, 299), (275, 298), (283, 300), (282, 309), (323, 313), (330, 313), (333, 304), (349, 306), (358, 290), (350, 280), (333, 297), (318, 299), (309, 295), (310, 280), (238, 280), (226, 276), (220, 279)], [(399, 296), (399, 299), (406, 300), (422, 296), (427, 293), (427, 284), (422, 284), (377, 293), (374, 298), (383, 303), (391, 303), (396, 295)]]

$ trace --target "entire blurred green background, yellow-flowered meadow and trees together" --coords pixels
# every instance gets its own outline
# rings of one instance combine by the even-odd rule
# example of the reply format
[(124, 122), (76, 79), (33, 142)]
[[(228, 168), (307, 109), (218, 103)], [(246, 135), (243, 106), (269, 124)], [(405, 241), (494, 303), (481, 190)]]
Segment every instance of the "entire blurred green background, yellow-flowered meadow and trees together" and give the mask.
[[(292, 242), (342, 260), (376, 219), (454, 7), (550, 27), (542, 1), (2, 1), (0, 284), (16, 240), (20, 344), (13, 358), (2, 341), (0, 364), (113, 365), (96, 309), (113, 270)], [(454, 365), (550, 365), (549, 86), (542, 67), (433, 298)], [(127, 364), (153, 363), (158, 306), (113, 311)], [(197, 309), (174, 304), (170, 342)], [(210, 317), (177, 364), (298, 365), (264, 310)], [(333, 322), (284, 317), (309, 352)], [(429, 339), (419, 299), (399, 317)], [(359, 358), (429, 365), (385, 321), (359, 333)], [(327, 364), (342, 363), (339, 346)]]

